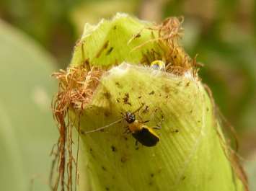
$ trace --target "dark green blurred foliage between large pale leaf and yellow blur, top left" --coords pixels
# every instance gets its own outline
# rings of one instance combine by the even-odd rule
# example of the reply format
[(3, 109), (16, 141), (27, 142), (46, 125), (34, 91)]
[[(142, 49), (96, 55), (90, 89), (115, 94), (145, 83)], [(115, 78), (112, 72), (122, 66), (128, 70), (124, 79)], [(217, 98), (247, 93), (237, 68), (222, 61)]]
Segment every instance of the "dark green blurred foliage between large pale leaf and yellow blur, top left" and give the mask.
[(60, 62), (71, 58), (76, 35), (69, 19), (79, 1), (0, 1), (0, 17), (19, 27), (50, 50)]

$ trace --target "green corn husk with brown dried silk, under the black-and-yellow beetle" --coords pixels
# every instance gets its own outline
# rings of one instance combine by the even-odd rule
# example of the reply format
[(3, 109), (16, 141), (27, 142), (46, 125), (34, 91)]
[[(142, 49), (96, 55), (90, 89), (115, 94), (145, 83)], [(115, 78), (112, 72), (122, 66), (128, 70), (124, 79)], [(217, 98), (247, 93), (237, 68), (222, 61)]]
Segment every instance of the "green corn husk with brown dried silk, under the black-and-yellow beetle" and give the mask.
[[(195, 59), (180, 47), (179, 37), (176, 18), (153, 25), (118, 14), (97, 26), (85, 26), (71, 69), (63, 74), (66, 82), (59, 78), (69, 89), (62, 87), (56, 101), (58, 109), (70, 111), (69, 119), (80, 134), (79, 190), (247, 189), (242, 169), (231, 162), (231, 150), (213, 100), (198, 78)], [(165, 71), (149, 67), (159, 59), (167, 63)], [(60, 95), (68, 101), (61, 102)], [(160, 137), (156, 146), (137, 148), (131, 134), (123, 133), (125, 122), (86, 134), (141, 105), (136, 117), (149, 120), (149, 127), (164, 119), (156, 131)], [(57, 119), (59, 114), (55, 113)], [(61, 114), (62, 122), (65, 115)]]

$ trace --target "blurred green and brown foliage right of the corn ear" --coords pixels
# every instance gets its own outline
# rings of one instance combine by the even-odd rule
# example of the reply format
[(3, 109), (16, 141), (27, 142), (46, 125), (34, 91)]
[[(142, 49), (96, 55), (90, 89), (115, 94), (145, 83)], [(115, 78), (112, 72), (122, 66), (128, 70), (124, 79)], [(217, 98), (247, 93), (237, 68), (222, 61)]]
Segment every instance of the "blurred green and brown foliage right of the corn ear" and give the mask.
[(254, 6), (255, 1), (170, 1), (164, 12), (185, 16), (185, 49), (191, 56), (199, 53), (205, 64), (200, 76), (239, 130), (256, 128)]

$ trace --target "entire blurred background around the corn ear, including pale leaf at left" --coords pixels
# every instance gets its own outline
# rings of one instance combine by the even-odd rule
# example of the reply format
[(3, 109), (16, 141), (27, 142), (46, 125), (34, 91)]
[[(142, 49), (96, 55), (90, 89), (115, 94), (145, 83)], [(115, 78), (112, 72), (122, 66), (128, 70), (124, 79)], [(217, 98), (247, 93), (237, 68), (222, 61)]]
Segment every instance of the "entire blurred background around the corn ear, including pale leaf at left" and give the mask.
[(236, 128), (244, 166), (256, 179), (256, 1), (1, 0), (1, 189), (49, 190), (49, 154), (58, 136), (50, 74), (69, 65), (85, 22), (116, 12), (152, 22), (185, 17), (182, 44), (204, 63), (200, 77)]

